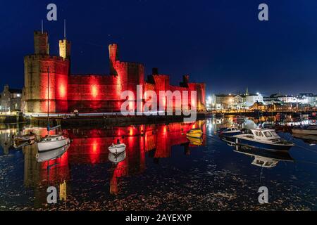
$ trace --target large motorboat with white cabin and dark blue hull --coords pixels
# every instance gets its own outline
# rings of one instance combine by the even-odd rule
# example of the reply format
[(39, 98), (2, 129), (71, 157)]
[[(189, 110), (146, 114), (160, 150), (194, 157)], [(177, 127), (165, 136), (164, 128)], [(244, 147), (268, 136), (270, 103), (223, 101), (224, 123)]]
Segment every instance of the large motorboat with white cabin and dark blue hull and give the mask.
[(273, 151), (287, 151), (294, 143), (282, 139), (274, 129), (251, 129), (251, 134), (235, 135), (235, 143), (249, 148), (261, 148)]

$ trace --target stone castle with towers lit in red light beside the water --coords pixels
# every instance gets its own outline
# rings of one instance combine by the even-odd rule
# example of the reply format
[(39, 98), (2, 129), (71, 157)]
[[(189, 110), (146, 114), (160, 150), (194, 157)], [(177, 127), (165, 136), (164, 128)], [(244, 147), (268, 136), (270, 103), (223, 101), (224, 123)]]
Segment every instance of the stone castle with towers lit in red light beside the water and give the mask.
[(137, 85), (141, 85), (143, 91), (157, 94), (168, 90), (197, 91), (197, 110), (205, 110), (205, 84), (190, 83), (189, 76), (185, 75), (180, 86), (173, 86), (169, 76), (160, 75), (157, 69), (144, 80), (144, 65), (120, 61), (117, 44), (108, 46), (110, 75), (70, 74), (71, 43), (66, 38), (59, 41), (59, 56), (49, 54), (47, 32), (34, 32), (34, 47), (35, 53), (24, 58), (25, 113), (47, 113), (48, 108), (50, 113), (119, 112), (125, 101), (120, 99), (120, 94), (129, 90), (136, 95)]

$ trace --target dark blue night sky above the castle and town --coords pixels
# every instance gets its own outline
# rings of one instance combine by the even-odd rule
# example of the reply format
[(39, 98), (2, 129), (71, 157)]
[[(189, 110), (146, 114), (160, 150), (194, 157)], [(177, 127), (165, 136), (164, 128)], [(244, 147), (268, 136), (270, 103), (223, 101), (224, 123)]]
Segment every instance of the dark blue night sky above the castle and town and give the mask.
[[(108, 44), (120, 58), (159, 68), (178, 84), (182, 75), (206, 82), (207, 94), (244, 91), (317, 93), (317, 1), (2, 1), (0, 89), (23, 87), (23, 56), (44, 20), (51, 53), (58, 54), (63, 19), (72, 41), (72, 73), (108, 74)], [(258, 20), (268, 4), (269, 21)]]

